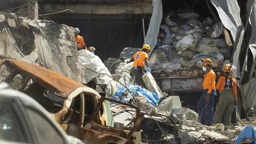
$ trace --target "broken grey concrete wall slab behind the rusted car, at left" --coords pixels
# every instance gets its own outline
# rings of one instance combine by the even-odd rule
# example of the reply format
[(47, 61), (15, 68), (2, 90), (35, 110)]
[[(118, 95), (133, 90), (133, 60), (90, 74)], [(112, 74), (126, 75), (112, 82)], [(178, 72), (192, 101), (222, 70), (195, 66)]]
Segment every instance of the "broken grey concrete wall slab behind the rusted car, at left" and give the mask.
[(75, 81), (85, 82), (73, 29), (53, 21), (0, 13), (0, 58), (37, 63)]

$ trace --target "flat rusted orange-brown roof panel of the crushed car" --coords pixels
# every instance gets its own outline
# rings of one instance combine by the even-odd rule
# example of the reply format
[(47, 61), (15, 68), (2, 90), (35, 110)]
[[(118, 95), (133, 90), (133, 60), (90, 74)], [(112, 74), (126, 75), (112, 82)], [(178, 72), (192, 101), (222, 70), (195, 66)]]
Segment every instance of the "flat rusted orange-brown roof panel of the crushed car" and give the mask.
[(40, 67), (33, 63), (26, 63), (24, 61), (16, 61), (7, 59), (2, 63), (12, 63), (12, 65), (23, 73), (27, 73), (34, 81), (43, 85), (46, 89), (53, 91), (60, 97), (66, 98), (72, 91), (78, 87), (87, 87), (77, 81), (69, 79), (59, 73), (55, 73), (44, 67)]

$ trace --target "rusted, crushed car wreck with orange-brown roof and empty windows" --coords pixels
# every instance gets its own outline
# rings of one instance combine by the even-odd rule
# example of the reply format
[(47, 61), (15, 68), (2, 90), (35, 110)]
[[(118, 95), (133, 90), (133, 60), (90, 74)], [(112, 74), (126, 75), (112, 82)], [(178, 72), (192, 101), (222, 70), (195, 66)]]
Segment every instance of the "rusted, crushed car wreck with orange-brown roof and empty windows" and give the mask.
[[(32, 63), (3, 59), (0, 70), (1, 81), (39, 102), (68, 135), (86, 143), (140, 143), (143, 113), (138, 107), (101, 96), (86, 85)], [(136, 109), (133, 127), (113, 127), (109, 101)]]

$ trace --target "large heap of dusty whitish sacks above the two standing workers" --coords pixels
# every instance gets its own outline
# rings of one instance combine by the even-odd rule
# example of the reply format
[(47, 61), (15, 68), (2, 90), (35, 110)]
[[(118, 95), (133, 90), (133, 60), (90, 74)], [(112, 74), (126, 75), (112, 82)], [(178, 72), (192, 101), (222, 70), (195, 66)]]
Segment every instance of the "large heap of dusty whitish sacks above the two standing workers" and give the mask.
[[(163, 17), (157, 45), (149, 59), (153, 71), (171, 72), (182, 67), (202, 67), (201, 59), (209, 58), (220, 67), (229, 58), (225, 27), (209, 17), (179, 9)], [(174, 16), (175, 15), (175, 16)]]

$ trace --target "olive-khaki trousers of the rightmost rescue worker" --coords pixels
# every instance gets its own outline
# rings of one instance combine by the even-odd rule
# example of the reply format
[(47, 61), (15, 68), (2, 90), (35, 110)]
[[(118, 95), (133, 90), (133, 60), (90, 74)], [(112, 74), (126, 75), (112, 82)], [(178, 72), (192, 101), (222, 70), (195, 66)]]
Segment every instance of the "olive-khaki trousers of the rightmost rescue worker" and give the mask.
[(219, 96), (219, 102), (216, 105), (213, 124), (223, 123), (223, 125), (230, 126), (233, 106), (234, 97), (232, 89), (223, 89)]

